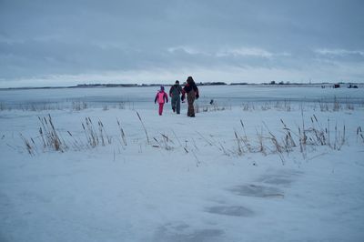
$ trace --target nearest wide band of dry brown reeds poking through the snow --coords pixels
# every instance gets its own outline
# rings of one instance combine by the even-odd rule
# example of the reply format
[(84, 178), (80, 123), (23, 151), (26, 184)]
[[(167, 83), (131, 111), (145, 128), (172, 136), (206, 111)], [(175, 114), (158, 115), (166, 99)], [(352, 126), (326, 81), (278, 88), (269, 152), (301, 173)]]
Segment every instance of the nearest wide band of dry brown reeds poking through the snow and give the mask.
[[(335, 123), (335, 126), (331, 127), (330, 119), (327, 122), (321, 122), (316, 115), (309, 116), (308, 120), (310, 121), (305, 122), (307, 119), (303, 116), (303, 111), (301, 112), (301, 124), (296, 127), (288, 126), (282, 118), (279, 118), (282, 128), (278, 129), (278, 132), (271, 131), (269, 126), (263, 122), (262, 126), (256, 127), (255, 134), (250, 134), (250, 136), (247, 134), (246, 125), (240, 119), (239, 126), (241, 126), (241, 130), (233, 129), (233, 137), (229, 140), (221, 138), (216, 140), (212, 134), (202, 134), (198, 131), (196, 131), (197, 136), (195, 136), (197, 140), (194, 137), (178, 137), (175, 131), (171, 131), (172, 135), (159, 133), (150, 140), (142, 117), (137, 112), (136, 116), (143, 126), (147, 144), (146, 139), (138, 139), (128, 144), (124, 127), (117, 118), (117, 126), (114, 127), (117, 131), (115, 136), (108, 135), (106, 126), (101, 120), (94, 122), (90, 117), (86, 117), (84, 122), (81, 123), (81, 131), (76, 133), (78, 135), (75, 136), (70, 131), (66, 131), (68, 138), (64, 140), (61, 136), (62, 133), (56, 129), (54, 120), (50, 115), (38, 116), (40, 122), (39, 136), (35, 138), (25, 138), (22, 134), (20, 136), (26, 152), (32, 156), (35, 155), (37, 146), (42, 146), (44, 151), (48, 149), (65, 152), (69, 148), (80, 151), (96, 146), (111, 145), (113, 139), (116, 139), (119, 140), (116, 143), (116, 150), (118, 149), (119, 153), (119, 147), (126, 149), (127, 146), (133, 145), (139, 147), (139, 152), (143, 152), (143, 149), (147, 148), (147, 146), (158, 147), (161, 151), (165, 150), (167, 152), (181, 150), (186, 155), (189, 154), (188, 156), (194, 156), (197, 160), (197, 166), (201, 164), (197, 154), (210, 152), (210, 150), (220, 152), (224, 156), (244, 156), (248, 153), (259, 153), (264, 156), (278, 155), (284, 165), (287, 159), (286, 154), (288, 156), (293, 151), (299, 151), (304, 158), (307, 158), (308, 151), (315, 150), (317, 146), (328, 146), (333, 150), (340, 150), (348, 142), (347, 127), (345, 125), (340, 128)], [(82, 132), (85, 135), (83, 137), (79, 135)], [(364, 144), (361, 126), (357, 127), (356, 134), (357, 143)], [(173, 136), (173, 140), (171, 136)], [(231, 147), (229, 147), (230, 145)]]

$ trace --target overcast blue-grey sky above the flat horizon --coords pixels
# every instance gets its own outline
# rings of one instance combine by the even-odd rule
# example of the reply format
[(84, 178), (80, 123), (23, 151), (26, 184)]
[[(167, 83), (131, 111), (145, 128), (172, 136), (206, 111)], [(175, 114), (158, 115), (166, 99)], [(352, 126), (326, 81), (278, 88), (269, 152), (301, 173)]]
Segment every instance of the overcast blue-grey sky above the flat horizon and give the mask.
[(0, 0), (0, 87), (364, 81), (362, 0)]

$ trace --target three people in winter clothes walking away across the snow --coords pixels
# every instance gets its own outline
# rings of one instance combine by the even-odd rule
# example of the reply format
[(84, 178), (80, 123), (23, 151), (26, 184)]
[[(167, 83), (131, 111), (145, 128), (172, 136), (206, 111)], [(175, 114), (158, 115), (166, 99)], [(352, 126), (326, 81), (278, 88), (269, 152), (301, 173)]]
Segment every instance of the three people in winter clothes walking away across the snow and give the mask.
[[(177, 115), (180, 114), (180, 108), (181, 108), (181, 101), (184, 102), (187, 96), (187, 104), (188, 104), (188, 111), (187, 116), (194, 117), (195, 116), (195, 108), (194, 108), (194, 102), (195, 99), (198, 99), (198, 88), (196, 86), (196, 83), (192, 76), (187, 77), (186, 85), (182, 88), (179, 85), (179, 81), (177, 80), (175, 85), (171, 86), (169, 89), (169, 96), (171, 97), (171, 103), (172, 103), (172, 110), (173, 112), (176, 112)], [(165, 92), (165, 87), (160, 86), (160, 90), (157, 92), (157, 96), (154, 100), (155, 103), (158, 103), (159, 105), (159, 116), (163, 113), (163, 106), (165, 103), (168, 102), (168, 96)]]

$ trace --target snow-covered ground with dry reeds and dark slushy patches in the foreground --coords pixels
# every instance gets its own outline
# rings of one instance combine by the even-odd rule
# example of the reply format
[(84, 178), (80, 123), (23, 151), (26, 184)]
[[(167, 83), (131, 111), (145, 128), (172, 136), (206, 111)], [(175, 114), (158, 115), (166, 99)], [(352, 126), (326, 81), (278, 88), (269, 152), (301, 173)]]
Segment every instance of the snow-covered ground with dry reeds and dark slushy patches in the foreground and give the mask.
[(196, 118), (0, 111), (0, 241), (364, 240), (362, 103), (209, 106), (208, 88)]

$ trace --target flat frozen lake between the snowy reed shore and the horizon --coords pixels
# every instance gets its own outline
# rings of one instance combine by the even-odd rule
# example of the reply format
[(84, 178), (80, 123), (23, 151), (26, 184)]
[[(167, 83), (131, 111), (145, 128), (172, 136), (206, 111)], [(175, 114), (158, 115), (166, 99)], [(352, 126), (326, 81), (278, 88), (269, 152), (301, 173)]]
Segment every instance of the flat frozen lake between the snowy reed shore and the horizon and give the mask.
[[(359, 86), (361, 87), (361, 86)], [(166, 86), (167, 92), (169, 86)], [(87, 106), (152, 106), (157, 86), (147, 87), (82, 87), (52, 89), (0, 90), (0, 106), (24, 108), (26, 106), (69, 106), (85, 103)], [(251, 102), (288, 101), (292, 103), (328, 102), (363, 104), (364, 88), (321, 88), (320, 86), (199, 86), (200, 104), (211, 99), (219, 104), (238, 106)]]

